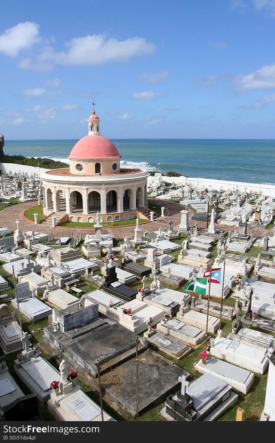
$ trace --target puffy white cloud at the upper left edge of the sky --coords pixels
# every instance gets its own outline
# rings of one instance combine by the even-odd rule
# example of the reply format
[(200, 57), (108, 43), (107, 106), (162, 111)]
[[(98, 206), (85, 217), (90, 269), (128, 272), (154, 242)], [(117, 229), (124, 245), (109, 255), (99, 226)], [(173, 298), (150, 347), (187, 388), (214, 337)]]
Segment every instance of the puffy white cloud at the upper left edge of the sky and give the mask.
[(16, 57), (19, 51), (30, 48), (39, 41), (39, 25), (32, 22), (18, 23), (0, 35), (0, 52)]

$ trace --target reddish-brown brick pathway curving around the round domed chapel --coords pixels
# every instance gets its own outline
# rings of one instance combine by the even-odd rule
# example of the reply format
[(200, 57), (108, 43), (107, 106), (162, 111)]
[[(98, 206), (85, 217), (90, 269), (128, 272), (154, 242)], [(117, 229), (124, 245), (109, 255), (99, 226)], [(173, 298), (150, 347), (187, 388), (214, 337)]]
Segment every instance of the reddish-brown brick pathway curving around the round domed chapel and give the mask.
[[(152, 221), (150, 223), (145, 223), (140, 225), (140, 229), (142, 234), (144, 232), (153, 232), (157, 231), (160, 227), (161, 228), (167, 228), (168, 229), (168, 221), (172, 220), (173, 228), (176, 229), (176, 226), (180, 224), (180, 211), (182, 209), (189, 210), (189, 223), (191, 226), (195, 226), (195, 221), (191, 220), (192, 215), (194, 214), (193, 211), (190, 208), (187, 208), (187, 206), (180, 205), (176, 202), (170, 202), (168, 200), (161, 200), (161, 199), (153, 199), (153, 202), (160, 206), (165, 206), (166, 215), (165, 217), (159, 217), (156, 221)], [(51, 226), (38, 224), (34, 225), (31, 221), (25, 220), (23, 218), (23, 213), (26, 209), (30, 208), (31, 206), (35, 205), (35, 201), (32, 202), (26, 202), (22, 203), (20, 205), (10, 206), (6, 209), (0, 211), (0, 226), (9, 228), (11, 230), (16, 229), (16, 223), (15, 220), (18, 218), (20, 221), (20, 229), (22, 229), (23, 232), (31, 231), (34, 229), (35, 232), (41, 232), (41, 233), (53, 233), (54, 237), (71, 237), (71, 233), (73, 233), (73, 237), (76, 237), (77, 235), (80, 235), (82, 233), (82, 237), (85, 236), (86, 233), (95, 233), (95, 230), (93, 228), (65, 228), (65, 227), (59, 227), (52, 228)], [(198, 222), (199, 228), (206, 228), (206, 222), (199, 221)], [(225, 231), (233, 230), (233, 226), (228, 225), (217, 225), (218, 229), (224, 229)], [(111, 233), (113, 237), (134, 237), (134, 229), (135, 225), (132, 226), (110, 226), (103, 229), (103, 233)], [(255, 231), (255, 229), (248, 229), (248, 233), (252, 233)], [(263, 228), (257, 229), (257, 237), (262, 237), (264, 235), (273, 236), (274, 231), (267, 231)]]

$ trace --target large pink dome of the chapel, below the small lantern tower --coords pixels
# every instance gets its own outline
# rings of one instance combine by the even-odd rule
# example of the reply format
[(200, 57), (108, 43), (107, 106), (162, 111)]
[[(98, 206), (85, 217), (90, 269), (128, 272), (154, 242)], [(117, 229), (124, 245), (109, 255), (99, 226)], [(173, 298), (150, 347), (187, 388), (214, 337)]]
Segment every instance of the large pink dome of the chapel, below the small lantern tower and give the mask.
[(91, 135), (80, 139), (73, 147), (68, 159), (113, 159), (120, 158), (111, 140), (103, 136)]

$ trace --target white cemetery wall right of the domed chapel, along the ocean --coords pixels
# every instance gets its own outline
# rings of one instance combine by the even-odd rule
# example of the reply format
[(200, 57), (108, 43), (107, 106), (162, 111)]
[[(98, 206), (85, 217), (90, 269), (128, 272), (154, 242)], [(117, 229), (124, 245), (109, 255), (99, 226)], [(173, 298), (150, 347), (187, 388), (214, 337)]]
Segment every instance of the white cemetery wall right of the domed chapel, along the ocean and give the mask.
[(245, 182), (229, 182), (226, 180), (214, 180), (214, 179), (202, 179), (202, 178), (194, 178), (194, 177), (166, 177), (162, 176), (162, 179), (165, 182), (175, 184), (189, 184), (191, 183), (192, 187), (202, 187), (203, 185), (208, 189), (220, 189), (221, 187), (223, 190), (232, 190), (233, 187), (238, 187), (238, 190), (244, 191), (244, 188), (247, 188), (247, 192), (250, 192), (250, 190), (255, 191), (257, 193), (260, 193), (260, 190), (263, 191), (264, 195), (271, 195), (271, 197), (275, 198), (275, 185), (268, 185), (265, 183), (245, 183)]

